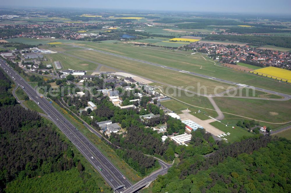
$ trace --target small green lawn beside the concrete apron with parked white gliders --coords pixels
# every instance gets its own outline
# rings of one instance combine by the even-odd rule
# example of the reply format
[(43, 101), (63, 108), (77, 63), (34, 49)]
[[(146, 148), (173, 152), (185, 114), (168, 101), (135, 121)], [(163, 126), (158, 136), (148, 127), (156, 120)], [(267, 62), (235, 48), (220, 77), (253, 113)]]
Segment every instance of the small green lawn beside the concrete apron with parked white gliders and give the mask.
[(253, 133), (248, 132), (246, 129), (235, 126), (235, 129), (232, 126), (225, 126), (224, 124), (219, 123), (218, 121), (214, 121), (210, 123), (210, 125), (218, 128), (224, 133), (230, 133), (230, 135), (224, 136), (222, 138), (226, 138), (228, 142), (232, 143), (235, 141), (240, 141), (243, 136), (253, 136)]

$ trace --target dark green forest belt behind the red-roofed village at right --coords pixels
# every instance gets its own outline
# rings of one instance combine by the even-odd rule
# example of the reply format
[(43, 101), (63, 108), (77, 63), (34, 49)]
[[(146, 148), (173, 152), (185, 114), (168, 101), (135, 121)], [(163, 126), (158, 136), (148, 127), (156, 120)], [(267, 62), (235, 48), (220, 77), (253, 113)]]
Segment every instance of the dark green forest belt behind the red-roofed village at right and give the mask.
[(259, 35), (208, 35), (205, 40), (243, 42), (253, 46), (271, 45), (291, 48), (291, 37), (259, 36)]

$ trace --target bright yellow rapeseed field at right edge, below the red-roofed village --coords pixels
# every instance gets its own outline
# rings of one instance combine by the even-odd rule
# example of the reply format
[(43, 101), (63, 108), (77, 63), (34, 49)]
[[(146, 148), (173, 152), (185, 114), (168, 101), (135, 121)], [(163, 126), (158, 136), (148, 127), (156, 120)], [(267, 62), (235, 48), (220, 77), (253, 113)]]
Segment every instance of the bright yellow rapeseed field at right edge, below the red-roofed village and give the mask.
[(260, 68), (257, 70), (253, 70), (250, 72), (254, 73), (254, 74), (258, 73), (258, 75), (266, 76), (269, 78), (274, 78), (277, 80), (282, 79), (282, 81), (287, 80), (288, 82), (291, 82), (291, 71), (290, 70), (285, 70), (285, 69), (270, 66), (270, 67), (266, 67), (266, 68)]

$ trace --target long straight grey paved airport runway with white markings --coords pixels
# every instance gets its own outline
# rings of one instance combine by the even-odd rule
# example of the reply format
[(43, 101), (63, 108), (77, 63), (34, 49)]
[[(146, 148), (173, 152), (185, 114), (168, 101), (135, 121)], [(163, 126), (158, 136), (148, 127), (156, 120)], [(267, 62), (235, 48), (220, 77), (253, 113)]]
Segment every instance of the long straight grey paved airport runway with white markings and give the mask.
[[(79, 47), (79, 48), (83, 48), (83, 49), (88, 49), (87, 47), (82, 47), (82, 46), (77, 46), (77, 45), (72, 45), (72, 46)], [(194, 75), (194, 76), (200, 76), (202, 78), (209, 78), (209, 79), (212, 79), (212, 80), (215, 80), (215, 81), (219, 81), (219, 82), (223, 82), (223, 83), (228, 83), (228, 84), (232, 84), (232, 85), (238, 85), (239, 84), (239, 83), (236, 83), (236, 82), (233, 82), (233, 81), (223, 80), (221, 78), (214, 78), (214, 77), (211, 77), (211, 76), (207, 76), (207, 75), (203, 75), (203, 74), (198, 74), (198, 73), (195, 73), (195, 72), (189, 72), (189, 71), (184, 71), (184, 70), (176, 69), (176, 68), (173, 68), (173, 67), (167, 67), (167, 66), (159, 65), (159, 64), (156, 64), (156, 63), (153, 63), (153, 62), (147, 62), (147, 61), (144, 61), (144, 60), (130, 58), (130, 57), (127, 57), (127, 56), (121, 56), (121, 55), (118, 55), (118, 54), (115, 54), (115, 53), (105, 52), (105, 51), (96, 50), (96, 49), (92, 49), (92, 48), (90, 48), (90, 50), (91, 51), (100, 52), (100, 53), (104, 53), (104, 54), (109, 54), (111, 56), (116, 56), (116, 57), (120, 57), (120, 58), (124, 58), (124, 59), (128, 59), (128, 60), (142, 62), (142, 63), (145, 63), (145, 64), (157, 66), (157, 67), (164, 67), (166, 69), (170, 69), (170, 70), (174, 70), (174, 71), (178, 71), (178, 72), (183, 72), (183, 73), (191, 74), (191, 75)], [(291, 95), (289, 95), (289, 94), (283, 94), (283, 93), (279, 93), (279, 92), (275, 92), (275, 91), (271, 91), (271, 90), (266, 90), (266, 89), (262, 89), (262, 88), (259, 88), (259, 87), (253, 87), (253, 86), (249, 86), (249, 85), (247, 85), (246, 87), (247, 88), (254, 88), (254, 89), (259, 90), (259, 91), (262, 91), (262, 92), (269, 92), (269, 93), (275, 94), (275, 95), (277, 94), (277, 95), (283, 96), (283, 98), (288, 98), (288, 100), (291, 99)]]

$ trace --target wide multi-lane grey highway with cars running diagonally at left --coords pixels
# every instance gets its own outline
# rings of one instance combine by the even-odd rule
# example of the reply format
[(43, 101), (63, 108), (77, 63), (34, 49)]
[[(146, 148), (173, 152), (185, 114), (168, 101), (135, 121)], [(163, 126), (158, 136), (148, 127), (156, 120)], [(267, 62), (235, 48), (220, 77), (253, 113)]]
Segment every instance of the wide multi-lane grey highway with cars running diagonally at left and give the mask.
[[(131, 187), (131, 183), (123, 179), (123, 174), (92, 144), (82, 133), (80, 133), (74, 125), (72, 125), (58, 110), (56, 110), (44, 97), (41, 98), (22, 77), (17, 74), (5, 61), (0, 59), (0, 66), (11, 77), (16, 84), (20, 85), (27, 93), (29, 98), (47, 114), (58, 128), (69, 138), (69, 140), (77, 147), (83, 156), (93, 165), (93, 167), (101, 174), (104, 180), (115, 190), (120, 186), (124, 186), (114, 192), (122, 192), (126, 188)], [(23, 88), (24, 87), (24, 88)], [(95, 131), (96, 132), (96, 131)], [(100, 135), (99, 133), (95, 133)], [(100, 171), (102, 169), (102, 171)]]

